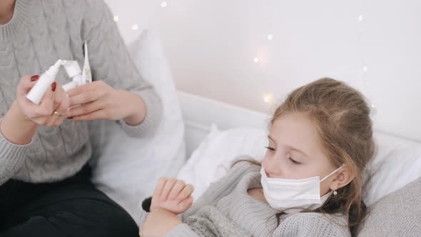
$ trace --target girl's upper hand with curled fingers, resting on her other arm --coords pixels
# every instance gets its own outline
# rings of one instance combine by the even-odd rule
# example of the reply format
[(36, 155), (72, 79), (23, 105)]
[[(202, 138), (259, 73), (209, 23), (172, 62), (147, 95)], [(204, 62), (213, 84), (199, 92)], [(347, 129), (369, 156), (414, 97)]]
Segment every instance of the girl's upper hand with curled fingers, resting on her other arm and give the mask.
[(160, 178), (153, 191), (151, 212), (165, 209), (176, 215), (187, 211), (193, 204), (193, 185), (176, 178)]

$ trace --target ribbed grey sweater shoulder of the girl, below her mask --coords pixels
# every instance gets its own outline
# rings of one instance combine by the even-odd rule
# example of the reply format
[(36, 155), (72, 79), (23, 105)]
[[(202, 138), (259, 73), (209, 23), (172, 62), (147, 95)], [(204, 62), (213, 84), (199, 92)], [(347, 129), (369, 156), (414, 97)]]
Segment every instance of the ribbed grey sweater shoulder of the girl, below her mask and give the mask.
[[(338, 214), (339, 215), (339, 214)], [(285, 218), (273, 236), (351, 236), (348, 221), (344, 216), (323, 213), (298, 213)]]

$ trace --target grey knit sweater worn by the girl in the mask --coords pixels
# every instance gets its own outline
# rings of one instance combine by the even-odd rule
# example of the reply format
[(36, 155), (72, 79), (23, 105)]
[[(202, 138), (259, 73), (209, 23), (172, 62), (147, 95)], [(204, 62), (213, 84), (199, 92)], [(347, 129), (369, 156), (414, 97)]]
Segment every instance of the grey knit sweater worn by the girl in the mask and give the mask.
[[(277, 211), (248, 195), (248, 189), (261, 187), (260, 166), (238, 163), (228, 176), (210, 185), (181, 215), (183, 224), (173, 228), (166, 237), (234, 236), (234, 233), (236, 236), (351, 236), (348, 218), (341, 214), (290, 213), (281, 216), (278, 225)], [(141, 207), (138, 213), (142, 226), (148, 213)]]

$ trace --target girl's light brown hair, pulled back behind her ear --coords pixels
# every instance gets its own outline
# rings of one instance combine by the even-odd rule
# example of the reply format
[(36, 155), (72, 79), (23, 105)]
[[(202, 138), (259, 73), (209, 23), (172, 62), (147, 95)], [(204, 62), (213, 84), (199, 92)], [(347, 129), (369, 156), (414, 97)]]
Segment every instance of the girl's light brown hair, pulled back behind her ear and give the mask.
[(317, 212), (348, 215), (351, 233), (363, 222), (362, 171), (375, 153), (370, 108), (359, 91), (341, 81), (323, 78), (292, 91), (276, 109), (270, 124), (281, 116), (299, 113), (313, 121), (333, 166), (348, 166), (355, 178), (338, 195), (330, 196)]

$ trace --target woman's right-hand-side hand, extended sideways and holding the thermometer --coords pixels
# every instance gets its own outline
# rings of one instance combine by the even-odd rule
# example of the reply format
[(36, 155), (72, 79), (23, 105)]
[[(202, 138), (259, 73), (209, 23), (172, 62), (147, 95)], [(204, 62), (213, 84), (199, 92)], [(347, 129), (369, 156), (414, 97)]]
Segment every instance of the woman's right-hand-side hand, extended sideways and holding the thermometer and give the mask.
[(124, 119), (129, 125), (136, 126), (146, 116), (146, 106), (139, 96), (115, 90), (103, 81), (78, 86), (67, 94), (69, 106), (75, 106), (66, 113), (72, 120)]

